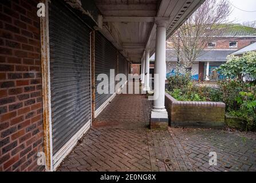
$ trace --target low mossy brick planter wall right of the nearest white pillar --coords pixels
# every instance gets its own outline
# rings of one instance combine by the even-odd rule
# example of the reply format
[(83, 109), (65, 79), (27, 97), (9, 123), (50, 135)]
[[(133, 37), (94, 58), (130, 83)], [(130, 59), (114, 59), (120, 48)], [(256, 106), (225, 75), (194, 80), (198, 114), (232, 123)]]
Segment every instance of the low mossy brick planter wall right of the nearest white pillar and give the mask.
[(166, 93), (165, 105), (171, 126), (223, 128), (225, 104), (222, 102), (177, 101)]

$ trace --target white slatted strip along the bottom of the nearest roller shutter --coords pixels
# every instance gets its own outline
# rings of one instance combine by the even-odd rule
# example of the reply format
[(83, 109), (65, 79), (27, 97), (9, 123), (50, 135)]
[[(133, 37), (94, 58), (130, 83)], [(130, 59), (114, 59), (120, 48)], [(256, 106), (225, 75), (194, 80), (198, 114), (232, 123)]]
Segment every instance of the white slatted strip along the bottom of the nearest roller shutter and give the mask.
[(80, 130), (56, 154), (53, 156), (53, 171), (55, 171), (58, 166), (61, 164), (61, 162), (64, 160), (64, 158), (72, 151), (74, 146), (77, 145), (77, 141), (84, 136), (86, 132), (90, 129), (90, 121), (87, 121)]

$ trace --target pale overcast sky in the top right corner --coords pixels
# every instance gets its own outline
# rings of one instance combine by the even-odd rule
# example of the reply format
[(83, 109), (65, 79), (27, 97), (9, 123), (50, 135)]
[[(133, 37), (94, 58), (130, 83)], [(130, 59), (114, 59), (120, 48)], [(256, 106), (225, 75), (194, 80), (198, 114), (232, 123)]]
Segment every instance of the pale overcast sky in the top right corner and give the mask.
[(234, 23), (256, 21), (256, 0), (230, 0), (230, 3), (242, 10), (255, 11), (245, 12), (231, 5), (233, 11), (229, 17), (230, 21), (234, 21)]

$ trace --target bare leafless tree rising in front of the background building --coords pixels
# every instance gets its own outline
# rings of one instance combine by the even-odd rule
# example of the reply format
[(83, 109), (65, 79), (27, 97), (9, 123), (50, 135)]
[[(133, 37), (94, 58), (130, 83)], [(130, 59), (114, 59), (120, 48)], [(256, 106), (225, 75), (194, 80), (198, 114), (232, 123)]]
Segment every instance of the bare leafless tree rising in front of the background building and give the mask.
[(231, 6), (227, 0), (206, 0), (171, 37), (171, 46), (188, 72), (214, 36), (223, 35), (230, 25)]

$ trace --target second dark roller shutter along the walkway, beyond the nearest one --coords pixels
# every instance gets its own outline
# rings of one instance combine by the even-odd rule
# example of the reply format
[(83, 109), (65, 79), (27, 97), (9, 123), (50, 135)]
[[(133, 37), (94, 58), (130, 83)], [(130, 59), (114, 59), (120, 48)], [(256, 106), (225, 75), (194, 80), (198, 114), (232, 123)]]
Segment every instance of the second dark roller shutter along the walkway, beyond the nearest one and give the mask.
[(97, 76), (99, 74), (107, 74), (108, 81), (105, 81), (105, 86), (107, 86), (108, 82), (108, 94), (99, 94), (96, 90), (95, 94), (95, 109), (99, 109), (101, 105), (104, 104), (105, 101), (108, 100), (109, 97), (112, 96), (113, 93), (110, 93), (110, 88), (115, 89), (115, 82), (110, 83), (110, 79), (114, 79), (115, 75), (111, 77), (110, 70), (116, 69), (116, 49), (103, 35), (99, 32), (96, 32), (95, 35), (95, 83), (96, 89), (99, 83), (102, 81), (97, 81)]

